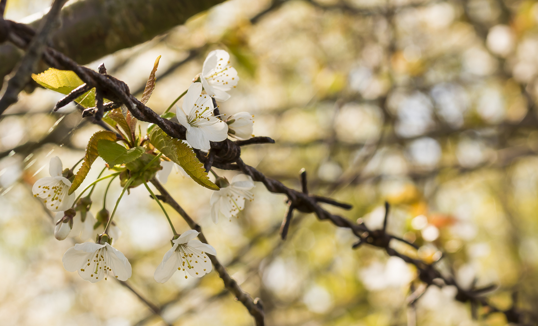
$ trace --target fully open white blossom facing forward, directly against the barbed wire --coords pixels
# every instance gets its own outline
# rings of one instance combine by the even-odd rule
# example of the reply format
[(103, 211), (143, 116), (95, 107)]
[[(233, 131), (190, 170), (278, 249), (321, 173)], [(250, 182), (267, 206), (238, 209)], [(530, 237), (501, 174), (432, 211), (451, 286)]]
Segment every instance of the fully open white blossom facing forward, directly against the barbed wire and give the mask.
[[(177, 107), (177, 106), (176, 106)], [(187, 128), (187, 142), (196, 149), (210, 149), (209, 142), (220, 142), (228, 137), (228, 124), (213, 116), (213, 101), (202, 94), (202, 84), (190, 84), (183, 106), (177, 107), (176, 117)]]

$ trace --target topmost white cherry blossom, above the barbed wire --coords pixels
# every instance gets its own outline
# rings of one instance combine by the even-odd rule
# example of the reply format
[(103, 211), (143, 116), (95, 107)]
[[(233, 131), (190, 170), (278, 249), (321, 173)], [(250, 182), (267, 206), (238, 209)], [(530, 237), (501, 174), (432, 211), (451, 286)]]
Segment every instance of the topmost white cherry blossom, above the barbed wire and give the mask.
[(230, 64), (230, 54), (224, 50), (209, 52), (203, 62), (200, 81), (206, 92), (214, 96), (217, 101), (225, 101), (230, 98), (226, 91), (235, 88), (239, 77), (237, 71)]

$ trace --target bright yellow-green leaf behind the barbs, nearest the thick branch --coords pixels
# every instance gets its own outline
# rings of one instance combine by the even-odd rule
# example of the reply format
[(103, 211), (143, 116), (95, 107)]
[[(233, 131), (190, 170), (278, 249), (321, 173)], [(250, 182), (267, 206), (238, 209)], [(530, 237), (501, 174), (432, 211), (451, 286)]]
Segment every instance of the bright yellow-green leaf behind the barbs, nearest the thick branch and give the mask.
[[(84, 84), (84, 82), (74, 72), (70, 70), (58, 70), (48, 68), (48, 70), (40, 74), (32, 74), (32, 79), (39, 85), (52, 89), (58, 93), (69, 94), (73, 89)], [(95, 88), (80, 95), (75, 102), (79, 103), (84, 108), (95, 106)]]

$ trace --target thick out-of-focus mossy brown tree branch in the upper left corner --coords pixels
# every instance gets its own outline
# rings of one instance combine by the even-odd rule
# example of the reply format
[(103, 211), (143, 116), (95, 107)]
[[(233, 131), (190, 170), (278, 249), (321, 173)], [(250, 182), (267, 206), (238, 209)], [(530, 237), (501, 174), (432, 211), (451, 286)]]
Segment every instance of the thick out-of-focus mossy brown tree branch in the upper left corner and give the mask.
[[(222, 2), (224, 0), (81, 0), (62, 9), (62, 26), (53, 34), (52, 47), (79, 64), (88, 64), (150, 40)], [(40, 21), (30, 25), (37, 27)], [(13, 70), (22, 54), (12, 44), (0, 45), (0, 81)]]

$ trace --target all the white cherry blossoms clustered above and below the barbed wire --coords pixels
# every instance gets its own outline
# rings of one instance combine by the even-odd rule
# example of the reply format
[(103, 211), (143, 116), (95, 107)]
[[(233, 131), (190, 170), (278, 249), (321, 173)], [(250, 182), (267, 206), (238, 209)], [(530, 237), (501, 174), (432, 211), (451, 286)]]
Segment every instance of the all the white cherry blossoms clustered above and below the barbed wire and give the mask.
[[(186, 143), (194, 149), (207, 151), (210, 142), (224, 141), (227, 137), (247, 140), (253, 136), (253, 115), (250, 113), (239, 112), (225, 120), (222, 119), (224, 115), (215, 113), (218, 110), (214, 103), (228, 100), (230, 94), (227, 92), (235, 88), (239, 81), (237, 71), (230, 66), (229, 59), (228, 52), (224, 50), (211, 51), (203, 63), (202, 72), (188, 87), (182, 106), (176, 106), (176, 119), (186, 128)], [(161, 157), (160, 165), (157, 177), (161, 183), (166, 183), (174, 167), (183, 171), (178, 164), (164, 157)], [(50, 177), (34, 183), (32, 192), (34, 197), (43, 201), (48, 210), (56, 212), (55, 238), (79, 238), (86, 241), (77, 243), (66, 251), (62, 258), (65, 269), (69, 272), (77, 271), (84, 280), (92, 283), (107, 280), (111, 276), (121, 281), (129, 279), (132, 273), (129, 260), (112, 246), (113, 240), (121, 235), (112, 221), (115, 210), (109, 217), (103, 207), (94, 217), (89, 211), (91, 192), (84, 198), (80, 198), (82, 193), (79, 197), (75, 197), (75, 193), (69, 194), (73, 171), (63, 170), (59, 157), (51, 158), (49, 173)], [(214, 191), (209, 200), (211, 219), (215, 224), (221, 217), (229, 220), (236, 217), (244, 209), (246, 199), (253, 199), (250, 190), (254, 183), (250, 176), (239, 174), (231, 182), (216, 176), (215, 184), (219, 190)], [(128, 186), (126, 184), (125, 188)], [(151, 192), (149, 188), (148, 191)], [(172, 248), (166, 252), (155, 270), (155, 281), (168, 281), (176, 270), (183, 272), (185, 278), (188, 277), (187, 274), (200, 278), (211, 272), (210, 256), (216, 255), (215, 248), (194, 239), (199, 235), (195, 230), (181, 234), (175, 233), (173, 226), (172, 230)], [(93, 239), (95, 242), (91, 241)]]

